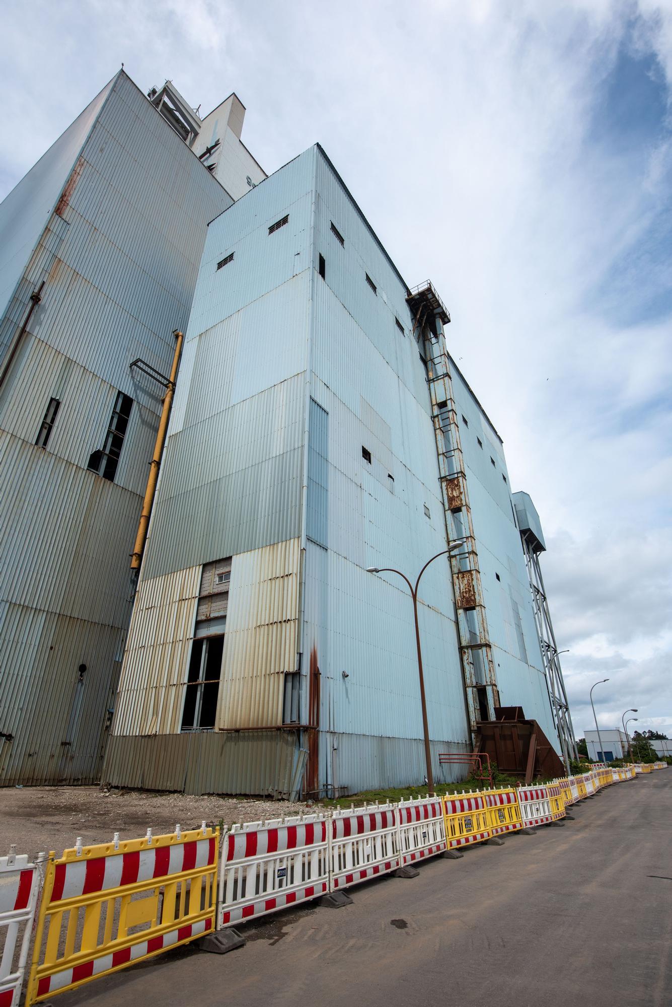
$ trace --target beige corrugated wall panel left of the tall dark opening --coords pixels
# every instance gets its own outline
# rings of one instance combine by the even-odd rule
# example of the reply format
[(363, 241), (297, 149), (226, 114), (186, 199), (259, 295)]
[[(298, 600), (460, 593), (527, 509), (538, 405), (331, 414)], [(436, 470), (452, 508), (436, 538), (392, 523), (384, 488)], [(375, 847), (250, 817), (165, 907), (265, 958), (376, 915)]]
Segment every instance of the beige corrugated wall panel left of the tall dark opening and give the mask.
[(114, 734), (179, 731), (200, 571), (199, 566), (190, 567), (140, 584), (124, 655)]

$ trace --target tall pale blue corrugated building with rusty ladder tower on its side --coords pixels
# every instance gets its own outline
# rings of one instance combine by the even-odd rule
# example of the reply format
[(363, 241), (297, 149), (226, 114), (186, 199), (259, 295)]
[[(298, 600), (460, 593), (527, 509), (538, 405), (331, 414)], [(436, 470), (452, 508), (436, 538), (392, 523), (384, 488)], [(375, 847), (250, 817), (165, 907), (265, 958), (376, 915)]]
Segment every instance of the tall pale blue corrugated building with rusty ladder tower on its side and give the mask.
[(434, 286), (406, 284), (319, 145), (222, 209), (104, 778), (313, 796), (421, 781), (413, 610), (389, 568), (414, 581), (449, 544), (418, 591), (436, 778), (502, 708), (564, 750), (523, 549), (530, 529), (543, 545), (538, 517), (526, 494), (514, 507)]

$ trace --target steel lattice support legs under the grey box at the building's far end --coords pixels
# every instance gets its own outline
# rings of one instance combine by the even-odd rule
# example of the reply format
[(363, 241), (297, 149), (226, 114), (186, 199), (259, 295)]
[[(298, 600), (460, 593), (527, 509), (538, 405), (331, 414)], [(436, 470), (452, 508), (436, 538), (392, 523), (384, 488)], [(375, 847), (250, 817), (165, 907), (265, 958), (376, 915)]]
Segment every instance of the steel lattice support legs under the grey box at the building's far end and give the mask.
[(571, 725), (571, 717), (569, 716), (569, 704), (567, 703), (567, 694), (564, 689), (562, 669), (560, 668), (560, 659), (555, 642), (555, 633), (553, 632), (553, 623), (550, 618), (548, 599), (543, 586), (543, 577), (539, 564), (539, 556), (542, 550), (539, 548), (534, 535), (531, 535), (529, 532), (522, 531), (520, 537), (523, 543), (527, 576), (529, 577), (530, 589), (532, 591), (534, 623), (539, 637), (546, 686), (548, 688), (555, 727), (562, 747), (562, 756), (568, 768), (569, 759), (577, 759), (578, 751), (576, 750), (576, 740)]

